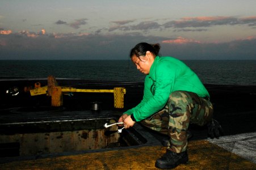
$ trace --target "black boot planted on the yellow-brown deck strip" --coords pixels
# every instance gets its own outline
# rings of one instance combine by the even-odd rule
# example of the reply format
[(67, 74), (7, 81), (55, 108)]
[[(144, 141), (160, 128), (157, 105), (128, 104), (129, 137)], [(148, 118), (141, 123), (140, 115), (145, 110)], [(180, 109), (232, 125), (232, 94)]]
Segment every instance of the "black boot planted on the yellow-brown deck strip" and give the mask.
[(179, 154), (166, 150), (166, 153), (159, 159), (157, 159), (155, 166), (161, 169), (175, 168), (179, 164), (186, 164), (188, 162), (187, 151)]

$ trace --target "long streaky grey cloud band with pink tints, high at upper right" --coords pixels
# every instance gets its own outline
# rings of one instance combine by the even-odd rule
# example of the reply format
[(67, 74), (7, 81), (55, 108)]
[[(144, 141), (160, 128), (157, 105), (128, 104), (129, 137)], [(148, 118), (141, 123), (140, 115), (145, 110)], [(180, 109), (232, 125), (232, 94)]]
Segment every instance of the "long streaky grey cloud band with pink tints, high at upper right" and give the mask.
[[(138, 20), (138, 19), (137, 19)], [(166, 19), (165, 19), (166, 20)], [(163, 30), (173, 28), (173, 32), (202, 32), (208, 31), (205, 29), (216, 25), (248, 25), (255, 28), (256, 16), (238, 18), (234, 16), (198, 16), (186, 17), (179, 20), (171, 20), (160, 24), (156, 21), (140, 22), (132, 24), (135, 20), (120, 20), (114, 21), (116, 25), (111, 25), (108, 31), (150, 31), (153, 29)]]

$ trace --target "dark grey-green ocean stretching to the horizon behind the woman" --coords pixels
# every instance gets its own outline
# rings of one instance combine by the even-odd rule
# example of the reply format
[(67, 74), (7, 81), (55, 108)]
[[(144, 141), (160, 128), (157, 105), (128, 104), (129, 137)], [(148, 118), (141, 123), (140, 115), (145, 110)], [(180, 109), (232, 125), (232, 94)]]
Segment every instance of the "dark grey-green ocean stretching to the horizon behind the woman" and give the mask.
[[(256, 60), (183, 60), (204, 84), (256, 85)], [(130, 60), (0, 60), (0, 78), (144, 82)]]

